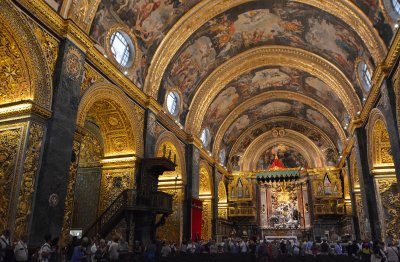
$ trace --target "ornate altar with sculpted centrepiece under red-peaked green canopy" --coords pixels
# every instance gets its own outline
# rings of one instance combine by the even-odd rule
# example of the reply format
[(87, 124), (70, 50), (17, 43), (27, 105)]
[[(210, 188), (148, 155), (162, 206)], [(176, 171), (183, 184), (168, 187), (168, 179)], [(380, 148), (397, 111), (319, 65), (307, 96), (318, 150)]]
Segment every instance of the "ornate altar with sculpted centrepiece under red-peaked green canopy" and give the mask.
[(286, 168), (276, 157), (270, 168), (256, 175), (259, 186), (260, 229), (264, 236), (303, 236), (310, 225), (308, 191), (299, 168)]

